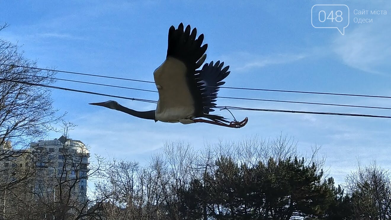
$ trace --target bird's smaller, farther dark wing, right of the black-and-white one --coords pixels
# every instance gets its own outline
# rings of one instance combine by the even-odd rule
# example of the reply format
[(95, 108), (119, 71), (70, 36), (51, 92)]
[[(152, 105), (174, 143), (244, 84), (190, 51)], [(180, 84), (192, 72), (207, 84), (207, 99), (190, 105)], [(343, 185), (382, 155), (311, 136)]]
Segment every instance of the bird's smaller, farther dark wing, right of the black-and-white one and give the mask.
[(212, 107), (216, 106), (217, 93), (219, 92), (220, 86), (224, 85), (223, 79), (225, 79), (230, 71), (230, 66), (224, 67), (224, 62), (217, 61), (213, 65), (213, 61), (205, 63), (201, 70), (195, 71), (197, 86), (201, 93), (201, 105), (203, 106), (202, 117), (212, 119), (213, 121), (224, 121), (224, 117), (219, 115), (209, 115), (209, 112), (213, 112)]

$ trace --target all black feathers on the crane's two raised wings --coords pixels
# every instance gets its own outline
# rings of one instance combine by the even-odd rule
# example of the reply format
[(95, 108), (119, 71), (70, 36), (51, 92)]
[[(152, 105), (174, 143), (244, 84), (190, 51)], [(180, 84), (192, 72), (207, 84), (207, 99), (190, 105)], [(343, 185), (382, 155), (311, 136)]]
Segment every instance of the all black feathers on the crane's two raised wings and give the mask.
[[(208, 47), (207, 44), (202, 45), (204, 35), (201, 34), (197, 39), (197, 30), (194, 28), (190, 33), (190, 25), (183, 30), (183, 24), (179, 24), (178, 29), (174, 26), (169, 30), (169, 43), (167, 49), (167, 58), (173, 57), (183, 63), (187, 67), (187, 84), (190, 93), (194, 100), (194, 116), (206, 117), (213, 121), (228, 122), (224, 117), (220, 115), (209, 115), (209, 112), (213, 112), (217, 92), (219, 86), (223, 85), (222, 82), (230, 72), (229, 66), (224, 67), (224, 62), (217, 61), (213, 65), (206, 63), (201, 70), (196, 70), (202, 65), (205, 56), (204, 53)], [(199, 62), (197, 62), (199, 61)]]

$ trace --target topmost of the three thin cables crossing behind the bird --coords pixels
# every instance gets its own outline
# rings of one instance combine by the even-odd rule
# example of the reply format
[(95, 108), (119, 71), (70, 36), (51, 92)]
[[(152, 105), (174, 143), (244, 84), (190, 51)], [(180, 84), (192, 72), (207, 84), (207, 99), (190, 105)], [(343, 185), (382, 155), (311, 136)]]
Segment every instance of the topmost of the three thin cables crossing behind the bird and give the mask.
[[(1, 64), (1, 63), (0, 63), (0, 65), (5, 65), (5, 66), (9, 66), (9, 67), (21, 67), (21, 68), (46, 70), (46, 71), (53, 71), (53, 72), (70, 73), (70, 74), (79, 74), (79, 75), (85, 75), (85, 76), (103, 77), (103, 78), (110, 78), (110, 79), (121, 79), (121, 80), (136, 81), (136, 82), (143, 82), (143, 83), (154, 83), (153, 81), (120, 78), (120, 77), (112, 77), (112, 76), (102, 76), (102, 75), (97, 75), (97, 74), (86, 74), (86, 73), (70, 72), (70, 71), (63, 71), (63, 70), (52, 70), (52, 69), (44, 69), (44, 68), (37, 68), (37, 67), (25, 67), (25, 66), (19, 66), (19, 65)], [(214, 86), (208, 86), (208, 87), (214, 87)], [(290, 92), (290, 93), (304, 93), (304, 94), (335, 95), (335, 96), (356, 96), (356, 97), (389, 98), (389, 99), (391, 98), (391, 96), (373, 96), (373, 95), (332, 93), (332, 92), (309, 92), (309, 91), (278, 90), (278, 89), (263, 89), (263, 88), (244, 88), (244, 87), (220, 87), (220, 88), (238, 89), (238, 90), (253, 90), (253, 91), (268, 91), (268, 92)]]

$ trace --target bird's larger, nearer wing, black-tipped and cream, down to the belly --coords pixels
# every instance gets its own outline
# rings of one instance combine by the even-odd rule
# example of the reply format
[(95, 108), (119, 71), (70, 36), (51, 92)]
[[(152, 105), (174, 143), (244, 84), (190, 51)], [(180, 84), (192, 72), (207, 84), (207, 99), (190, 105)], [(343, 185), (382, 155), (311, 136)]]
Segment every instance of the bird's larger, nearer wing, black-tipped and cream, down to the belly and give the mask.
[(184, 29), (171, 26), (168, 34), (166, 60), (154, 71), (154, 80), (159, 92), (156, 117), (160, 121), (178, 121), (202, 112), (202, 99), (195, 70), (205, 60), (207, 44), (202, 45), (204, 35), (198, 38), (197, 29), (190, 25)]

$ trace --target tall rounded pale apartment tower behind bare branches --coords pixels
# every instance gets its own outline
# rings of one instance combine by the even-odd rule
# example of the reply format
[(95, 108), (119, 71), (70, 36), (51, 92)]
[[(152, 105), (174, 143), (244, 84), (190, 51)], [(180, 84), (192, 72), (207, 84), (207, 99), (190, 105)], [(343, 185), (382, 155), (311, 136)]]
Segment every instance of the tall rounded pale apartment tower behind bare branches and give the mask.
[(29, 161), (35, 163), (36, 193), (56, 199), (56, 189), (61, 187), (62, 192), (71, 190), (80, 202), (86, 199), (90, 153), (82, 141), (61, 136), (31, 143), (29, 150), (32, 159), (26, 160), (25, 166), (29, 166)]

